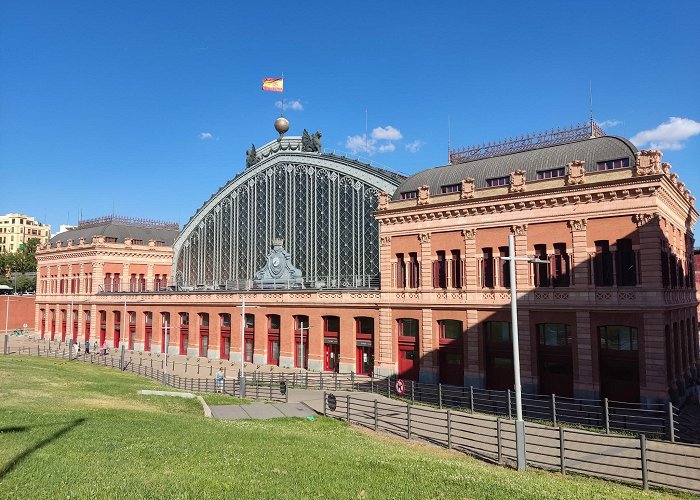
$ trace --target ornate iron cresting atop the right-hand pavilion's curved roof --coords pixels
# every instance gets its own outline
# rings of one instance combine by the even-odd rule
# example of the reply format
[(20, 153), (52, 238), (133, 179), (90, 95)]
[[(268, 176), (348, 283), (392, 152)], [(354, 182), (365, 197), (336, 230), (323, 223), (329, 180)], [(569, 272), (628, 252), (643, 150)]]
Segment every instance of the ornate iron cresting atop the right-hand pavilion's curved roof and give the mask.
[(605, 132), (591, 118), (589, 123), (581, 123), (565, 128), (533, 132), (521, 137), (511, 137), (499, 142), (490, 142), (469, 146), (466, 148), (450, 149), (450, 163), (463, 163), (481, 158), (490, 158), (532, 149), (546, 148), (558, 144), (583, 141), (594, 137), (602, 137)]

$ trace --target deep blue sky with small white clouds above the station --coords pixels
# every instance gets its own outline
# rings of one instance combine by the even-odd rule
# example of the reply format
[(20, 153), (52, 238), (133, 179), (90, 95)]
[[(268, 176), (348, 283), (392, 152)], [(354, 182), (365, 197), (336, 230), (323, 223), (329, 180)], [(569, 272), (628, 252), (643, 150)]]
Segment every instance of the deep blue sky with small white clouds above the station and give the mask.
[[(404, 174), (581, 123), (700, 200), (700, 2), (0, 0), (0, 214), (179, 222), (277, 137)], [(448, 135), (448, 123), (449, 135)], [(367, 135), (365, 136), (365, 131)]]

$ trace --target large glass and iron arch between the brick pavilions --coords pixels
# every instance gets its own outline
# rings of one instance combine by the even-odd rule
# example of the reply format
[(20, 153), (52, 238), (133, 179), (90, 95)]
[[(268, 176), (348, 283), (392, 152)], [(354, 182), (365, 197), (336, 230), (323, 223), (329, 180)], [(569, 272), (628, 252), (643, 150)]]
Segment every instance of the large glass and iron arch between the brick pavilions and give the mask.
[(378, 286), (379, 192), (399, 174), (331, 154), (302, 152), (300, 138), (272, 141), (261, 160), (221, 187), (174, 244), (178, 286), (252, 286), (276, 238), (306, 286)]

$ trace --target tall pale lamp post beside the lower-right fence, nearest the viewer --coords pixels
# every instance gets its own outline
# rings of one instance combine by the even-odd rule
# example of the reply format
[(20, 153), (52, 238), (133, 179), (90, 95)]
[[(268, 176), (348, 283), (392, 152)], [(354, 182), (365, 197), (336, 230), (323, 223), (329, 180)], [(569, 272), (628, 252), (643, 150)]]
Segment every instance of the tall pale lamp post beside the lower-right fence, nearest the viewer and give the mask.
[(518, 295), (515, 283), (515, 261), (523, 260), (534, 264), (549, 264), (549, 261), (534, 257), (515, 256), (515, 237), (508, 235), (508, 257), (501, 257), (508, 261), (510, 273), (510, 318), (513, 338), (513, 371), (515, 375), (515, 453), (518, 462), (518, 470), (524, 471), (527, 466), (525, 456), (525, 422), (523, 421), (523, 403), (520, 387), (520, 348), (518, 346)]

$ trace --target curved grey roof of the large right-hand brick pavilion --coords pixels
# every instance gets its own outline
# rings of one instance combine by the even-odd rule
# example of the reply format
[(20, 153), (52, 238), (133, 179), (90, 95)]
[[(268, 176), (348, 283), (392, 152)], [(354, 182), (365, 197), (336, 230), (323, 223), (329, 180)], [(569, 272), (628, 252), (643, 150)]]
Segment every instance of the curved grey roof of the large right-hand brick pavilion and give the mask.
[(420, 186), (430, 186), (430, 194), (442, 193), (442, 186), (459, 184), (462, 179), (474, 179), (477, 188), (486, 187), (486, 179), (505, 177), (515, 170), (524, 170), (525, 179), (537, 179), (537, 171), (564, 167), (574, 160), (586, 162), (586, 172), (595, 172), (600, 161), (629, 158), (634, 165), (637, 148), (627, 139), (616, 136), (595, 137), (582, 141), (559, 144), (530, 151), (505, 154), (491, 158), (434, 167), (418, 172), (407, 178), (394, 191), (394, 200), (401, 199), (401, 193), (415, 191)]

